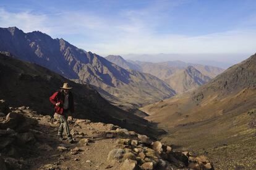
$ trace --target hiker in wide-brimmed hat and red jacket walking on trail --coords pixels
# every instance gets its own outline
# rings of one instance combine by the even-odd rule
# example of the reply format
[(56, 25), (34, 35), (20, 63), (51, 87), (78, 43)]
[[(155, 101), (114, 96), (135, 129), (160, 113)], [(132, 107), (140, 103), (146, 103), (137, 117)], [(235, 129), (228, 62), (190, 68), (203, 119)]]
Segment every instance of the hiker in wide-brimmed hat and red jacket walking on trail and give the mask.
[(72, 87), (69, 87), (68, 83), (64, 83), (61, 90), (56, 91), (49, 100), (54, 104), (54, 111), (58, 114), (59, 125), (58, 137), (60, 140), (63, 140), (63, 130), (67, 134), (67, 138), (70, 143), (74, 143), (72, 135), (70, 134), (69, 124), (67, 122), (67, 116), (70, 113), (74, 113), (74, 98), (70, 91)]

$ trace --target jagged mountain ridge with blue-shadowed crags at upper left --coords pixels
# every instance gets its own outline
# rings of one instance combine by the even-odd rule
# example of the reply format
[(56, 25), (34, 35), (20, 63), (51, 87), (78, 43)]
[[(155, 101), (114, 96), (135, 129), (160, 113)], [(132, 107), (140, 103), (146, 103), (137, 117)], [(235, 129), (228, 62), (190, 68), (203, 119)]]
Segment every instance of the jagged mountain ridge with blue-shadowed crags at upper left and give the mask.
[[(104, 57), (41, 32), (0, 28), (0, 51), (33, 62), (79, 83), (90, 83), (112, 103), (136, 108), (169, 98), (175, 91), (150, 74), (116, 66)], [(127, 100), (128, 99), (128, 100)]]

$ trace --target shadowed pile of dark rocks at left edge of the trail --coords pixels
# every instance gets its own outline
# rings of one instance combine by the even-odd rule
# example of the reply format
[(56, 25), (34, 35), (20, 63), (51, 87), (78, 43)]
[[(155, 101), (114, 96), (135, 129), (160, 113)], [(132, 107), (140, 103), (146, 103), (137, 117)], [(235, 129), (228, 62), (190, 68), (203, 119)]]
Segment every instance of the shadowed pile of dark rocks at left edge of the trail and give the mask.
[[(0, 102), (1, 111), (2, 108), (5, 111), (6, 104), (1, 100)], [(5, 107), (2, 107), (5, 106)], [(7, 169), (25, 169), (26, 161), (23, 160), (22, 156), (29, 154), (30, 150), (28, 145), (32, 145), (36, 142), (35, 131), (31, 128), (37, 124), (36, 119), (31, 119), (24, 116), (22, 113), (25, 111), (25, 107), (12, 109), (10, 113), (1, 115), (0, 121), (0, 164), (1, 167)], [(1, 161), (4, 160), (4, 161)]]

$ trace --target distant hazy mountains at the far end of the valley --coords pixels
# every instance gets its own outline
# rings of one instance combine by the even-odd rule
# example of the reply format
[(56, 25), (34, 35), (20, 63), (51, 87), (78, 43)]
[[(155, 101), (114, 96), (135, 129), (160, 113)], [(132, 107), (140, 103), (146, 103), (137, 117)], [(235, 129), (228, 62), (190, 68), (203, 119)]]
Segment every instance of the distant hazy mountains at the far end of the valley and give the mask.
[[(121, 56), (108, 56), (109, 61), (124, 69), (136, 69), (155, 75), (176, 91), (177, 94), (192, 90), (207, 83), (211, 78), (220, 74), (223, 69), (213, 66), (203, 66), (181, 61), (142, 62), (126, 61)], [(198, 69), (196, 69), (198, 68)], [(200, 70), (200, 71), (199, 71)], [(202, 72), (203, 73), (202, 73)]]

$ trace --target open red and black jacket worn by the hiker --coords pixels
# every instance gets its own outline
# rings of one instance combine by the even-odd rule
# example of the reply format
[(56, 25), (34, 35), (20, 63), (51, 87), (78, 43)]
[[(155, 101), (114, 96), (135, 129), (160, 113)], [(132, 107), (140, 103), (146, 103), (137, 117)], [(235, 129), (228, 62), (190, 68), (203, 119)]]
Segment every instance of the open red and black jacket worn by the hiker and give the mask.
[[(58, 114), (63, 114), (63, 103), (65, 100), (65, 95), (64, 95), (64, 91), (63, 90), (59, 90), (57, 92), (55, 92), (52, 96), (49, 97), (49, 100), (51, 101), (51, 103), (54, 104), (54, 109), (55, 109), (55, 113)], [(56, 103), (60, 102), (59, 106), (56, 106)], [(72, 93), (69, 91), (69, 111), (71, 113), (75, 112), (74, 109), (74, 98)]]

